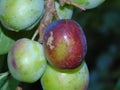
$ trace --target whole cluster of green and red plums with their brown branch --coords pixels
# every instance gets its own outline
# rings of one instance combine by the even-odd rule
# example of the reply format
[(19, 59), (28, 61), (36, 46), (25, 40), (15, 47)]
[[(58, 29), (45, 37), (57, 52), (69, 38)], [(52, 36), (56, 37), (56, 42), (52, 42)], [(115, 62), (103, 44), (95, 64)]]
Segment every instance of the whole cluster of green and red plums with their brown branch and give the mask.
[[(91, 9), (103, 1), (0, 0), (0, 54), (8, 53), (10, 74), (21, 82), (40, 79), (44, 90), (85, 90), (87, 42), (82, 27), (71, 20), (73, 8)], [(4, 34), (4, 30), (19, 33), (36, 27), (32, 40), (15, 41)], [(34, 40), (38, 33), (42, 42)]]

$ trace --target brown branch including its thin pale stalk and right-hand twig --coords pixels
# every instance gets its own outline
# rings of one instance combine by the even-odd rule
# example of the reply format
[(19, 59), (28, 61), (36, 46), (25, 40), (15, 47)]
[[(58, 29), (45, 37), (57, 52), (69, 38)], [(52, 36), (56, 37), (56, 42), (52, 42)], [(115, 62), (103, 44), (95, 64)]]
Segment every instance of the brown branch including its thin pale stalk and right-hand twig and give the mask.
[[(81, 10), (85, 10), (84, 7), (78, 5), (75, 2), (72, 2), (71, 0), (59, 0), (59, 3), (61, 6), (63, 6), (64, 4), (69, 4), (69, 5), (78, 7)], [(50, 24), (52, 22), (53, 16), (55, 16), (56, 19), (59, 19), (59, 16), (58, 16), (56, 8), (55, 8), (55, 0), (45, 0), (45, 14), (40, 22), (38, 29), (34, 33), (32, 40), (34, 40), (36, 35), (39, 34), (39, 42), (43, 43), (44, 30), (48, 26), (48, 24)]]

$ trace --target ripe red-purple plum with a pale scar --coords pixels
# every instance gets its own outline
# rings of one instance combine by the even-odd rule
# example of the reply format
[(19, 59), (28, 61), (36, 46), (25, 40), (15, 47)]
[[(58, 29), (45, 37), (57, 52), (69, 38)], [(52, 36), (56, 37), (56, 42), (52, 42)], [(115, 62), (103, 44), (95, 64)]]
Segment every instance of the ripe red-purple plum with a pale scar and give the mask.
[(77, 22), (63, 19), (52, 22), (44, 32), (48, 62), (61, 69), (78, 67), (87, 51), (85, 34)]

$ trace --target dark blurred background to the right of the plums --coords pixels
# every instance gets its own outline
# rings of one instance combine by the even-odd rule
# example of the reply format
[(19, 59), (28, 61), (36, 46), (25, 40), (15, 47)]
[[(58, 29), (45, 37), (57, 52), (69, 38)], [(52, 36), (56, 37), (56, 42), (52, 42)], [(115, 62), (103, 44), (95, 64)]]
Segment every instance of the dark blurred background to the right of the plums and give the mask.
[(88, 42), (88, 90), (120, 90), (120, 0), (106, 0), (85, 12), (75, 10), (73, 19), (83, 27)]

